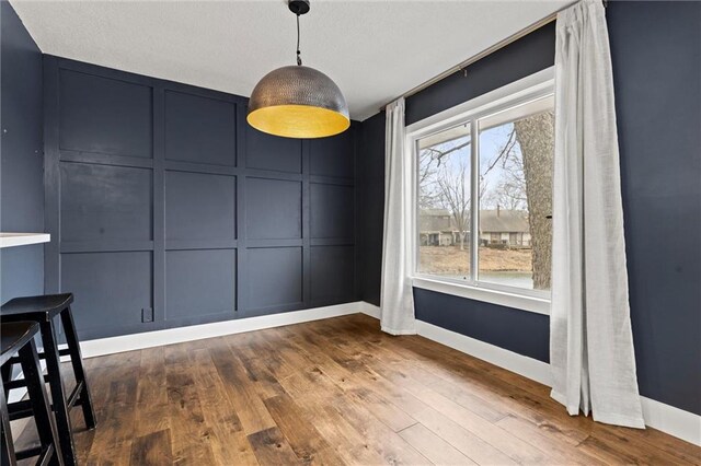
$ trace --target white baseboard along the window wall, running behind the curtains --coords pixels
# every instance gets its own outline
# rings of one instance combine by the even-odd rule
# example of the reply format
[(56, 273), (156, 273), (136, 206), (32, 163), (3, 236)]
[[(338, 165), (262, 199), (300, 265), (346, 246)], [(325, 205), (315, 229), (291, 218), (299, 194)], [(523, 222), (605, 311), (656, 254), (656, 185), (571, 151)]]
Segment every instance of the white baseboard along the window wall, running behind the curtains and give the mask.
[[(360, 312), (371, 317), (380, 317), (380, 308), (374, 304), (360, 303)], [(506, 350), (495, 345), (447, 330), (423, 321), (416, 321), (416, 330), (422, 337), (473, 356), (507, 371), (551, 386), (550, 364)], [(641, 396), (645, 424), (701, 446), (701, 416), (674, 406)]]

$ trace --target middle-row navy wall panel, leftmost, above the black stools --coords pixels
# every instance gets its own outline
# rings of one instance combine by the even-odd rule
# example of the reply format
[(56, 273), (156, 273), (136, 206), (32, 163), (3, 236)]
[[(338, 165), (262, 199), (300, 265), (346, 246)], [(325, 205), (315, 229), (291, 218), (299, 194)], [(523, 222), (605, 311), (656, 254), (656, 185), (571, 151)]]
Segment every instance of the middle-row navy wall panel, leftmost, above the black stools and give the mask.
[(61, 163), (61, 241), (150, 241), (151, 171)]

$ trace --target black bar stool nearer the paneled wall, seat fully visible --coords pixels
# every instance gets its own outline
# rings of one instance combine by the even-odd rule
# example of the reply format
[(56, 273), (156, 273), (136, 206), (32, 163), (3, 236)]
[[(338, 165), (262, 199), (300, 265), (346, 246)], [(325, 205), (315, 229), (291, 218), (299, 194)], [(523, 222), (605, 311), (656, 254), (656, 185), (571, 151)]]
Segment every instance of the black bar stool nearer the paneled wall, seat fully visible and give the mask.
[[(42, 296), (15, 298), (2, 305), (0, 318), (3, 322), (33, 321), (39, 324), (44, 352), (39, 353), (41, 359), (46, 359), (46, 381), (51, 391), (53, 410), (56, 415), (56, 426), (58, 428), (58, 441), (61, 446), (64, 463), (68, 466), (76, 464), (76, 448), (73, 447), (72, 429), (70, 426), (70, 409), (80, 405), (88, 429), (94, 429), (95, 415), (92, 408), (92, 399), (85, 372), (83, 370), (80, 345), (73, 325), (73, 316), (70, 312), (70, 303), (73, 302), (72, 293), (47, 294)], [(68, 348), (58, 348), (55, 317), (60, 316), (66, 342)], [(70, 362), (76, 376), (76, 388), (70, 394), (66, 394), (64, 381), (60, 375), (60, 357), (70, 356)], [(18, 363), (18, 360), (10, 359), (8, 365)], [(4, 389), (24, 386), (25, 381), (8, 381), (8, 370), (3, 368), (2, 378), (5, 382)], [(30, 416), (28, 405), (24, 401), (9, 405), (10, 420), (22, 419)]]

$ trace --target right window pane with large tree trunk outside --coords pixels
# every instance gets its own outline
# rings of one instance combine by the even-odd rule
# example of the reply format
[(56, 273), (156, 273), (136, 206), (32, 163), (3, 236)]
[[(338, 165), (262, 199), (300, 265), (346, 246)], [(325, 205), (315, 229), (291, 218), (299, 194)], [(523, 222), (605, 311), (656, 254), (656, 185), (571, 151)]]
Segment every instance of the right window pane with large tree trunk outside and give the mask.
[(476, 279), (548, 291), (552, 247), (552, 97), (485, 117), (478, 126)]

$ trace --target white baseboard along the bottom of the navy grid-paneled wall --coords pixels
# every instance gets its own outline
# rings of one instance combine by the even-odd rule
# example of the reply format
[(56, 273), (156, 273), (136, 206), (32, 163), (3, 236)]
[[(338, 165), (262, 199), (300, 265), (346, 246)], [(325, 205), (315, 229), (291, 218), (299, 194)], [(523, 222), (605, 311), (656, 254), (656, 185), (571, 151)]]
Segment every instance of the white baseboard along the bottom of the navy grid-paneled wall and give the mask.
[(235, 321), (191, 325), (187, 327), (166, 328), (164, 330), (85, 340), (80, 342), (80, 350), (83, 358), (94, 358), (97, 356), (134, 351), (145, 348), (160, 347), (163, 345), (202, 340), (205, 338), (221, 337), (225, 335), (262, 330), (264, 328), (280, 327), (283, 325), (300, 324), (302, 322), (356, 314), (360, 311), (363, 304), (363, 302), (336, 304), (325, 307), (284, 312), (257, 317), (240, 318)]

